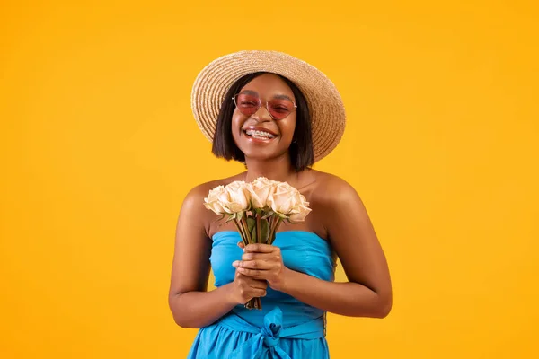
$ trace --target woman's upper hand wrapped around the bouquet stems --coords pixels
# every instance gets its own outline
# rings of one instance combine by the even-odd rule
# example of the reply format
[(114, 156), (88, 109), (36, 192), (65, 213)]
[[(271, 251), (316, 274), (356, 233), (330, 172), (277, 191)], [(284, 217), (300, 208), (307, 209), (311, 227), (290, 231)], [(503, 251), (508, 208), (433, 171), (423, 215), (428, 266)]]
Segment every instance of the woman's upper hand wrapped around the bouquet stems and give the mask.
[[(238, 246), (243, 248), (243, 242)], [(289, 269), (283, 264), (280, 248), (270, 244), (248, 244), (244, 247), (242, 260), (232, 264), (244, 276), (265, 279), (272, 289), (284, 287)]]

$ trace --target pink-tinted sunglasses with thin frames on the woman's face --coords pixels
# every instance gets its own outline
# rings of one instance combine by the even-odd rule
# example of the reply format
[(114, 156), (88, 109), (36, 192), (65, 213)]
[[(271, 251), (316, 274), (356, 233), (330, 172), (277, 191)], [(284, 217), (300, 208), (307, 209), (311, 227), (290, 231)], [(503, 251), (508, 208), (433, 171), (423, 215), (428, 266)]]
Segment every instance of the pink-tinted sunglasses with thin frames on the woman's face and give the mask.
[[(263, 104), (260, 97), (247, 93), (235, 94), (232, 99), (234, 100), (236, 108), (245, 116), (254, 115)], [(297, 108), (294, 101), (287, 99), (271, 99), (270, 101), (266, 101), (265, 105), (266, 109), (268, 109), (268, 113), (270, 113), (270, 116), (273, 119), (286, 118)]]

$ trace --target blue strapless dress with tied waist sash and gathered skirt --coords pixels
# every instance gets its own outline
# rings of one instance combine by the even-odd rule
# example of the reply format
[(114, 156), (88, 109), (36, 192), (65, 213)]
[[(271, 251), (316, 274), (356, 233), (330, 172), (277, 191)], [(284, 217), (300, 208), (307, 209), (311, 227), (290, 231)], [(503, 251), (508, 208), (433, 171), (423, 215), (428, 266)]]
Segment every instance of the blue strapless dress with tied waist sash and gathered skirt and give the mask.
[[(240, 234), (216, 232), (210, 256), (216, 287), (234, 281), (232, 262), (242, 258), (237, 246)], [(313, 232), (278, 232), (273, 243), (281, 249), (283, 263), (290, 269), (326, 281), (334, 280), (335, 262), (331, 247)], [(220, 320), (200, 328), (189, 359), (329, 358), (325, 339), (325, 312), (287, 293), (268, 287), (261, 298), (262, 310), (237, 305)]]

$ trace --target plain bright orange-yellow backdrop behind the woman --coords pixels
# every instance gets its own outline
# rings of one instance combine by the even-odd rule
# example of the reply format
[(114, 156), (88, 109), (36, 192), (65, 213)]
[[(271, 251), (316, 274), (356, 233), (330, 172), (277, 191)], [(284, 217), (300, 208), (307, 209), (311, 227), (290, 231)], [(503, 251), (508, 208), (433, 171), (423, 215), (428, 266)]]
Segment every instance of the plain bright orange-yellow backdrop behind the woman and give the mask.
[[(182, 358), (167, 303), (188, 190), (242, 171), (190, 111), (203, 66), (274, 49), (348, 114), (315, 165), (366, 203), (384, 320), (329, 315), (333, 358), (520, 358), (536, 288), (532, 1), (0, 4), (0, 357)], [(338, 280), (345, 280), (342, 267)]]

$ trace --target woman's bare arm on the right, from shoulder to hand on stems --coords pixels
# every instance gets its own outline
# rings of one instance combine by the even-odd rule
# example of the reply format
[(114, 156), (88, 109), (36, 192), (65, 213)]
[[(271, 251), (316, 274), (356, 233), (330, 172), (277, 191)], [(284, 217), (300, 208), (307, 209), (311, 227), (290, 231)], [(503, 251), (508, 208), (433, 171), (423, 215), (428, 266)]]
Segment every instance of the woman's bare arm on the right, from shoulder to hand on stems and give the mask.
[[(323, 311), (384, 318), (393, 302), (391, 280), (365, 206), (355, 189), (340, 179), (331, 180), (325, 193), (328, 196), (323, 199), (324, 224), (349, 282), (327, 282), (288, 269), (282, 265), (277, 247), (260, 244), (247, 246), (246, 252), (251, 253), (245, 259), (249, 260), (240, 263), (243, 268), (238, 270), (247, 276), (267, 279), (272, 288)], [(258, 254), (261, 251), (266, 253)], [(267, 267), (252, 260), (257, 256)]]

